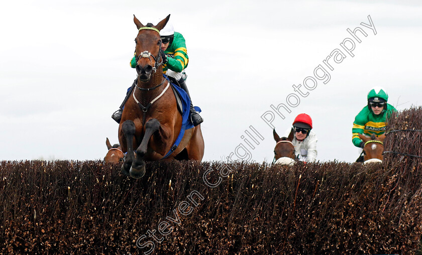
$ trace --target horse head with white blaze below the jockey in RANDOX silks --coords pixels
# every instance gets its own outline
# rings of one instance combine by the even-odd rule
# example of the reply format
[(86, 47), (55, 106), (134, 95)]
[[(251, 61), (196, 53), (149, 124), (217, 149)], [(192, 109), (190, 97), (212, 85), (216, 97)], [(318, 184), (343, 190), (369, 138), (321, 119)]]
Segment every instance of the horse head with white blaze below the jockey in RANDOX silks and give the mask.
[(375, 134), (372, 134), (371, 137), (359, 134), (359, 138), (365, 143), (363, 147), (364, 163), (382, 162), (385, 134), (378, 137)]

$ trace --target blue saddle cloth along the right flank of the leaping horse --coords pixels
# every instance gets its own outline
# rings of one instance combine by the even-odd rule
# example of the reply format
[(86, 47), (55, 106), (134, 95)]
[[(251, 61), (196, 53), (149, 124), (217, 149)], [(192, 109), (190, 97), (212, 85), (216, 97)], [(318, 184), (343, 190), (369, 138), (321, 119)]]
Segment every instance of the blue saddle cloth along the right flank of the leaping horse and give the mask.
[[(179, 136), (177, 136), (176, 141), (174, 142), (173, 146), (171, 147), (170, 151), (162, 158), (167, 158), (170, 154), (172, 154), (177, 147), (180, 144), (180, 141), (182, 141), (184, 132), (186, 130), (189, 130), (193, 127), (192, 121), (190, 120), (189, 114), (190, 114), (190, 98), (187, 95), (186, 91), (184, 91), (181, 87), (171, 83), (171, 81), (167, 78), (166, 75), (163, 74), (163, 76), (170, 82), (171, 86), (177, 91), (177, 93), (180, 96), (180, 99), (182, 101), (182, 127), (180, 129)], [(175, 95), (177, 96), (177, 95)], [(197, 112), (201, 112), (201, 109), (197, 106), (194, 107)]]

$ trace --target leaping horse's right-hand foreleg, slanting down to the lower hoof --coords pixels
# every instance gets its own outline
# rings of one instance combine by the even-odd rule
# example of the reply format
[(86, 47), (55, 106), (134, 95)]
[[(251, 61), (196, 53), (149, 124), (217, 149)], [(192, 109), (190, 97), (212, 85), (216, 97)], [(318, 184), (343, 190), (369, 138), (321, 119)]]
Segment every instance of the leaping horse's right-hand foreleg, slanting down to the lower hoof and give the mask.
[(157, 119), (152, 118), (145, 123), (145, 134), (142, 138), (142, 142), (136, 149), (136, 160), (132, 163), (130, 170), (133, 178), (141, 178), (145, 174), (145, 161), (143, 160), (147, 153), (148, 142), (151, 136), (160, 129), (160, 122)]

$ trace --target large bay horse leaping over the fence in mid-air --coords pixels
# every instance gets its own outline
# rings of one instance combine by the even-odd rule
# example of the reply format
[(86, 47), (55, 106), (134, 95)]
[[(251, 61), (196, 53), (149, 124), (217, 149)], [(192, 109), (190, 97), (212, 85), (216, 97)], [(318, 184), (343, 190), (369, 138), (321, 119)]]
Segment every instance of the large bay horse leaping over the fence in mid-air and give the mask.
[[(182, 134), (183, 118), (176, 98), (163, 77), (159, 31), (167, 24), (170, 15), (156, 26), (146, 26), (134, 16), (138, 28), (135, 39), (137, 85), (129, 97), (119, 125), (119, 142), (122, 151), (128, 152), (122, 172), (133, 178), (145, 174), (145, 160), (166, 159), (202, 160), (204, 143), (200, 125)], [(180, 140), (178, 146), (175, 142)], [(136, 157), (133, 152), (136, 150)]]

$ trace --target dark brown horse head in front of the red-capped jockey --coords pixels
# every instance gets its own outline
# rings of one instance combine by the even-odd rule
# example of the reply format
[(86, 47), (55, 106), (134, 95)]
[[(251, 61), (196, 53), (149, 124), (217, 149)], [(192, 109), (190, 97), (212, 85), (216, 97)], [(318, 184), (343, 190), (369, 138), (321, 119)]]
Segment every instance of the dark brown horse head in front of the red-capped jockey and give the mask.
[(293, 164), (296, 158), (294, 155), (294, 146), (291, 143), (291, 141), (293, 140), (293, 130), (290, 132), (288, 137), (280, 138), (274, 129), (273, 136), (274, 136), (275, 142), (277, 142), (274, 148), (275, 164), (282, 164), (282, 165)]

